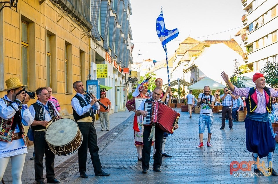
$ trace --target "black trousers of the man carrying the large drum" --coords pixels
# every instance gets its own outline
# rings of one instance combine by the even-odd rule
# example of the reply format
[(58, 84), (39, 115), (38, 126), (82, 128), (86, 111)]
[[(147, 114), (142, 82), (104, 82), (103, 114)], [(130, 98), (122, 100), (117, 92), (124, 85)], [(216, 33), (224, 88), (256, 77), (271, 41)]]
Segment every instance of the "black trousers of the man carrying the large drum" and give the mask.
[(45, 154), (46, 179), (51, 181), (55, 178), (54, 159), (55, 154), (50, 150), (44, 138), (45, 132), (35, 131), (34, 150), (35, 150), (35, 180), (44, 181), (43, 178), (43, 157)]

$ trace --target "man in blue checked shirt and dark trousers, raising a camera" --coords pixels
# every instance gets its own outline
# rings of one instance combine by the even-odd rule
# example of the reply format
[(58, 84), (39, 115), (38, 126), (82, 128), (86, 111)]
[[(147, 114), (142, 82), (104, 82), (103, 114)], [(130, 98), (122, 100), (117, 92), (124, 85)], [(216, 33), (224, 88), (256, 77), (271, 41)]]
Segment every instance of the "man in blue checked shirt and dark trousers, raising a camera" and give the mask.
[(220, 130), (225, 128), (225, 119), (228, 114), (229, 119), (229, 127), (230, 130), (233, 130), (233, 120), (232, 120), (232, 99), (235, 99), (235, 96), (228, 90), (227, 87), (224, 88), (224, 94), (220, 95), (220, 99), (222, 100), (222, 125)]

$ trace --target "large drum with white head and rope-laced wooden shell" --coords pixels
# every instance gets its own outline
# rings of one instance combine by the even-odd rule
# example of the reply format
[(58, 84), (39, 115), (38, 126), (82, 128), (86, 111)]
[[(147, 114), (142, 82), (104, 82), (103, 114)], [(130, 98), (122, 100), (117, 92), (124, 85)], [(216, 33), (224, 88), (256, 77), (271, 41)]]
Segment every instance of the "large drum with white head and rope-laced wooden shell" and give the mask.
[(65, 156), (78, 150), (83, 137), (74, 120), (62, 118), (56, 120), (47, 128), (45, 141), (54, 154)]

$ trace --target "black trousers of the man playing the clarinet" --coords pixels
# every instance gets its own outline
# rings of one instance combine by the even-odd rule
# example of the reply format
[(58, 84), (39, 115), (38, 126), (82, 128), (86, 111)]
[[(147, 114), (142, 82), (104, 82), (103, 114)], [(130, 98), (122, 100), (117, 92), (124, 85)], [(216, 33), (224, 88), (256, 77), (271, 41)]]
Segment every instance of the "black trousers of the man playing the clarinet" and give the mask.
[(79, 130), (83, 136), (83, 141), (78, 149), (78, 164), (79, 164), (79, 172), (80, 174), (84, 174), (86, 172), (86, 164), (87, 164), (87, 152), (89, 148), (89, 152), (91, 154), (91, 160), (94, 167), (95, 174), (99, 174), (102, 172), (101, 163), (98, 155), (98, 143), (96, 137), (96, 129), (94, 127), (94, 119), (93, 122), (76, 122), (78, 124)]

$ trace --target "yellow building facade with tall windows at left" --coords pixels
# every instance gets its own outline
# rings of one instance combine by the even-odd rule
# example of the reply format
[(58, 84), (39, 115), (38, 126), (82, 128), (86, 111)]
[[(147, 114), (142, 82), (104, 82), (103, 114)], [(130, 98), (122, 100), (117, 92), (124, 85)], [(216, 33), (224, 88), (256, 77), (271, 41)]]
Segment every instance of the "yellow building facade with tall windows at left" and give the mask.
[[(90, 23), (90, 22), (89, 22)], [(92, 28), (92, 27), (91, 27)], [(28, 91), (50, 86), (64, 117), (72, 117), (73, 82), (90, 72), (90, 24), (52, 1), (19, 0), (0, 12), (0, 96), (19, 77)], [(36, 98), (37, 99), (37, 98)], [(30, 100), (28, 106), (36, 102)]]

